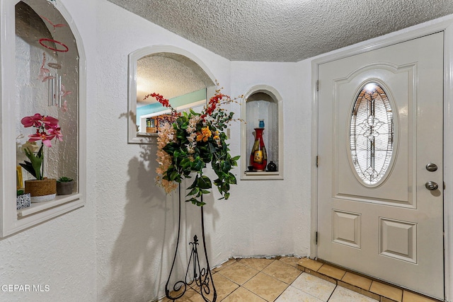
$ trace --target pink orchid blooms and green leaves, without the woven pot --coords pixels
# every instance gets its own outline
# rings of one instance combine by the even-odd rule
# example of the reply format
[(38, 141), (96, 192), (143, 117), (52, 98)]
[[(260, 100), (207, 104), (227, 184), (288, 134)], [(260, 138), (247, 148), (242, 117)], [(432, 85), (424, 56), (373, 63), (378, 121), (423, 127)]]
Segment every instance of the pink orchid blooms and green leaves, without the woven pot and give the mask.
[(32, 115), (30, 117), (23, 117), (21, 123), (25, 128), (36, 128), (36, 132), (28, 136), (28, 141), (30, 143), (41, 141), (42, 144), (36, 155), (35, 153), (33, 153), (33, 151), (30, 151), (29, 148), (25, 148), (25, 156), (27, 156), (30, 161), (19, 163), (19, 165), (21, 165), (25, 170), (33, 175), (36, 180), (42, 180), (44, 179), (44, 165), (42, 165), (42, 159), (44, 158), (44, 155), (42, 153), (42, 147), (51, 147), (51, 141), (54, 138), (59, 139), (59, 141), (63, 141), (63, 136), (58, 124), (58, 120), (55, 117), (51, 117), (49, 115), (40, 115), (39, 113), (35, 113), (35, 115)]

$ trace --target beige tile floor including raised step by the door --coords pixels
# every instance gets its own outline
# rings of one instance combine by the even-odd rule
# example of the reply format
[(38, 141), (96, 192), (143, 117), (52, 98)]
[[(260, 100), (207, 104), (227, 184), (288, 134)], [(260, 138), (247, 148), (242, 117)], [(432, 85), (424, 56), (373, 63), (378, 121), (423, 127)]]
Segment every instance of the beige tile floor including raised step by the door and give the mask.
[[(212, 269), (212, 279), (218, 302), (434, 301), (401, 289), (396, 289), (396, 293), (401, 291), (398, 296), (394, 294), (395, 289), (386, 284), (372, 283), (365, 277), (297, 257), (231, 259)], [(195, 290), (198, 289), (190, 289), (176, 301), (204, 302)], [(359, 294), (361, 291), (367, 296)], [(160, 301), (170, 300), (163, 298)]]

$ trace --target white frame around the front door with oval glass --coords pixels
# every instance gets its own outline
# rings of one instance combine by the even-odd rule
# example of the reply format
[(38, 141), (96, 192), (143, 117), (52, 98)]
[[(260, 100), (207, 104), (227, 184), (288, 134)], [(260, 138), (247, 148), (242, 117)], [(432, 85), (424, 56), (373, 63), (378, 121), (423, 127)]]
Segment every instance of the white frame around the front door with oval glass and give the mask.
[[(411, 28), (398, 30), (382, 37), (360, 42), (340, 50), (314, 57), (311, 62), (311, 234), (310, 257), (316, 258), (318, 249), (318, 170), (316, 168), (319, 142), (318, 66), (327, 62), (369, 52), (399, 42), (444, 32), (444, 281), (445, 301), (453, 301), (453, 15), (429, 21)], [(321, 83), (322, 85), (322, 83)], [(322, 158), (320, 158), (322, 164)]]

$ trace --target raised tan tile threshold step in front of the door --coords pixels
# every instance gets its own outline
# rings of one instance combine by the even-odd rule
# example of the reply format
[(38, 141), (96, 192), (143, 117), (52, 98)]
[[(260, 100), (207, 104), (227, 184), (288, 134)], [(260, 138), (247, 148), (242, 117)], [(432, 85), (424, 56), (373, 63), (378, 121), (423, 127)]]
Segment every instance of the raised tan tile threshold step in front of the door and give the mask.
[(382, 280), (373, 279), (357, 272), (349, 271), (343, 267), (337, 267), (322, 260), (302, 258), (297, 262), (297, 267), (303, 272), (343, 286), (369, 298), (381, 302), (440, 302), (423, 294), (403, 289), (402, 287), (388, 284)]

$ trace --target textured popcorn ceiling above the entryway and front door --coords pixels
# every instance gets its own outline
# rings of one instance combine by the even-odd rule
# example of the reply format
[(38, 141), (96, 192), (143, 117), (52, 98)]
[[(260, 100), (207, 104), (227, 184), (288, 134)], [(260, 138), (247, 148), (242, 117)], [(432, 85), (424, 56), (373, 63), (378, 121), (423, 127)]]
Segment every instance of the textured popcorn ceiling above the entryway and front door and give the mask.
[(452, 0), (108, 0), (233, 61), (299, 62), (453, 13)]

